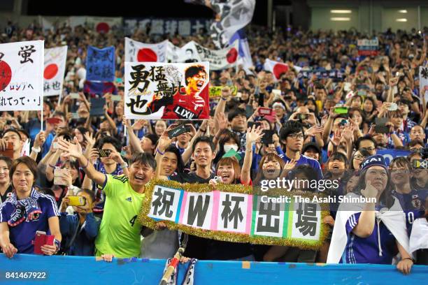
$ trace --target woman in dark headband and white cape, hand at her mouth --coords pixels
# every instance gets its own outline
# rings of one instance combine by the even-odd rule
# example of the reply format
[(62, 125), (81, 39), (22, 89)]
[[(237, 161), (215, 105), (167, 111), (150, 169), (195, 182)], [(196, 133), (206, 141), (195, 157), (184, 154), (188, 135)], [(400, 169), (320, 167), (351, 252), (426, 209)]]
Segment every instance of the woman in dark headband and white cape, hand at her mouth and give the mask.
[(410, 273), (413, 259), (408, 254), (406, 219), (391, 194), (383, 156), (363, 161), (355, 193), (346, 196), (356, 198), (354, 203), (343, 202), (338, 209), (327, 263), (392, 264), (400, 253), (397, 269)]

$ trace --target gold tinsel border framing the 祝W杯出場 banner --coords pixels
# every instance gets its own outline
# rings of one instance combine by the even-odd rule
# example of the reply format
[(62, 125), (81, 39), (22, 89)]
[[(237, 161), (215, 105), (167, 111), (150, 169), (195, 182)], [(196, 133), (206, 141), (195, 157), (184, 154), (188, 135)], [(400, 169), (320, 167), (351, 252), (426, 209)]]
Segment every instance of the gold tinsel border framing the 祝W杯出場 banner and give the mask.
[[(244, 186), (241, 184), (217, 184), (215, 187), (213, 187), (210, 184), (190, 184), (190, 183), (180, 184), (178, 182), (171, 181), (171, 180), (152, 180), (145, 187), (145, 198), (143, 200), (143, 204), (141, 205), (140, 214), (138, 214), (138, 221), (143, 226), (147, 226), (148, 228), (152, 228), (153, 230), (155, 230), (156, 228), (157, 221), (148, 217), (148, 214), (150, 212), (150, 207), (151, 207), (150, 204), (152, 200), (152, 193), (156, 185), (168, 187), (172, 189), (179, 189), (183, 191), (194, 192), (194, 193), (207, 193), (207, 192), (217, 190), (217, 191), (229, 192), (229, 193), (245, 193), (245, 194), (257, 195), (257, 193), (255, 193), (252, 187)], [(284, 191), (283, 189), (269, 189), (269, 196), (272, 196), (272, 197), (274, 196), (292, 197), (295, 195), (297, 195), (297, 193)], [(313, 198), (313, 196), (315, 196), (313, 193), (299, 193), (298, 195), (306, 198), (311, 198), (311, 199)], [(324, 197), (322, 195), (318, 195), (318, 196)], [(242, 234), (242, 233), (229, 233), (229, 232), (222, 232), (222, 231), (204, 230), (201, 228), (192, 228), (190, 226), (185, 226), (183, 224), (176, 224), (173, 221), (163, 221), (163, 222), (166, 224), (166, 226), (170, 230), (183, 231), (190, 235), (197, 235), (201, 238), (221, 240), (225, 242), (250, 242), (252, 244), (281, 245), (281, 246), (288, 246), (288, 247), (299, 247), (300, 249), (318, 250), (320, 249), (320, 247), (324, 243), (324, 240), (327, 238), (327, 235), (329, 234), (329, 226), (322, 222), (324, 217), (327, 217), (329, 215), (329, 205), (328, 203), (318, 203), (318, 204), (321, 207), (320, 240), (318, 241), (307, 241), (307, 240), (301, 240), (298, 238), (273, 238), (273, 237), (260, 236), (260, 235), (251, 236), (251, 235)]]

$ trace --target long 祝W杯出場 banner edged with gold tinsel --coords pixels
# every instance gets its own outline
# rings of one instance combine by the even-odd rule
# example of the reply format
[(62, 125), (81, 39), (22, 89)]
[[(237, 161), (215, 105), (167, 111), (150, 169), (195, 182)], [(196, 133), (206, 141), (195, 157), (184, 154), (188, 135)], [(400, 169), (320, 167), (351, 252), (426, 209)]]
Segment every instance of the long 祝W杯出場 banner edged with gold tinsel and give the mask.
[(329, 233), (322, 223), (328, 205), (299, 203), (284, 192), (280, 197), (290, 197), (290, 203), (252, 195), (252, 187), (241, 184), (213, 187), (154, 180), (145, 189), (138, 219), (153, 229), (164, 221), (169, 229), (201, 238), (320, 249)]

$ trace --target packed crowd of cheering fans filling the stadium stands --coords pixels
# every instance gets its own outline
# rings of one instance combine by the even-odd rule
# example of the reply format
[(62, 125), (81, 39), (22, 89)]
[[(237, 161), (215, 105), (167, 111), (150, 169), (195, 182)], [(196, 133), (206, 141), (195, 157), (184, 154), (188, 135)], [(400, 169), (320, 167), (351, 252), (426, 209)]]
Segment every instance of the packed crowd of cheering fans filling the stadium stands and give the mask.
[[(111, 260), (112, 256), (171, 257), (178, 246), (176, 231), (164, 229), (165, 224), (160, 222), (157, 231), (143, 229), (140, 232), (133, 228), (128, 233), (124, 228), (129, 225), (120, 224), (121, 221), (113, 217), (120, 215), (120, 211), (112, 206), (121, 203), (117, 200), (121, 187), (126, 184), (126, 191), (134, 189), (139, 195), (134, 200), (141, 201), (143, 186), (152, 177), (216, 184), (217, 180), (213, 178), (220, 176), (222, 183), (254, 186), (280, 176), (300, 180), (338, 180), (338, 189), (326, 189), (324, 193), (338, 196), (353, 192), (366, 196), (370, 192), (371, 196), (383, 197), (380, 199), (383, 206), (390, 205), (387, 201), (394, 196), (405, 211), (413, 212), (414, 219), (427, 217), (428, 170), (414, 169), (413, 163), (427, 159), (423, 149), (427, 139), (428, 112), (426, 102), (422, 100), (424, 96), (420, 94), (419, 79), (419, 66), (427, 64), (423, 31), (378, 33), (378, 55), (362, 57), (358, 55), (357, 39), (366, 37), (359, 31), (290, 29), (270, 32), (262, 27), (248, 27), (255, 67), (252, 73), (241, 68), (211, 71), (211, 86), (236, 85), (240, 96), (231, 96), (229, 88), (224, 87), (220, 98), (210, 99), (211, 119), (208, 121), (196, 124), (162, 120), (129, 122), (124, 119), (124, 102), (112, 101), (111, 94), (101, 94), (106, 98), (104, 116), (90, 117), (90, 95), (81, 92), (88, 45), (115, 46), (116, 78), (119, 78), (115, 85), (117, 94), (122, 97), (124, 36), (145, 43), (169, 38), (177, 46), (193, 40), (214, 48), (204, 31), (183, 38), (177, 35), (148, 36), (150, 27), (146, 28), (134, 34), (124, 34), (120, 29), (97, 34), (84, 27), (42, 32), (36, 25), (18, 29), (10, 23), (1, 35), (1, 43), (44, 39), (46, 48), (69, 46), (64, 95), (60, 103), (58, 96), (45, 98), (45, 129), (40, 131), (41, 112), (1, 114), (0, 147), (4, 149), (7, 142), (13, 142), (13, 160), (0, 157), (3, 202), (0, 245), (8, 256), (15, 252), (32, 253), (30, 241), (34, 239), (35, 231), (49, 229), (58, 244), (56, 247), (45, 246), (45, 254), (97, 254), (106, 260)], [(290, 68), (276, 80), (273, 73), (264, 71), (265, 59), (286, 62)], [(318, 78), (316, 73), (298, 73), (294, 66), (337, 71), (341, 76)], [(274, 94), (273, 89), (280, 89), (280, 94)], [(80, 92), (78, 99), (69, 96), (73, 92)], [(347, 107), (348, 112), (335, 112), (335, 106)], [(261, 107), (272, 108), (273, 115), (262, 115)], [(77, 119), (72, 117), (72, 112), (78, 113)], [(46, 122), (48, 117), (58, 118), (59, 123)], [(383, 124), (387, 131), (378, 132), (375, 126), (378, 118), (386, 118)], [(171, 140), (166, 130), (178, 124), (188, 124), (191, 131)], [(129, 133), (126, 138), (124, 129)], [(274, 131), (268, 144), (262, 143), (263, 130)], [(32, 151), (29, 158), (23, 158), (20, 152), (27, 138), (31, 139)], [(100, 157), (99, 149), (107, 156)], [(238, 156), (223, 157), (231, 149)], [(396, 158), (387, 166), (383, 157), (376, 155), (380, 149), (408, 149), (411, 154)], [(367, 158), (380, 162), (373, 166), (364, 164), (363, 161), (370, 162)], [(362, 164), (366, 167), (360, 168)], [(57, 169), (65, 170), (61, 172), (65, 185), (54, 183)], [(367, 180), (371, 180), (376, 190), (371, 187), (371, 191), (366, 191), (366, 184), (370, 184)], [(296, 187), (292, 190), (318, 191)], [(87, 203), (82, 207), (68, 207), (70, 195), (83, 196)], [(39, 201), (36, 210), (31, 210), (31, 199)], [(20, 203), (22, 200), (26, 202)], [(376, 205), (376, 209), (379, 206)], [(44, 220), (31, 222), (34, 215), (22, 216), (17, 213), (18, 208), (25, 209), (23, 212), (26, 213), (42, 212)], [(331, 229), (335, 215), (336, 212), (331, 210), (331, 215), (323, 220)], [(347, 224), (348, 238), (355, 240), (357, 245), (348, 243), (347, 250), (355, 247), (356, 254), (343, 262), (390, 264), (392, 257), (400, 251), (402, 259), (397, 267), (409, 272), (414, 260), (401, 250), (394, 238), (391, 240), (385, 235), (388, 230), (383, 224), (362, 228), (362, 224), (371, 224), (370, 219), (374, 219), (374, 214), (369, 218), (363, 216), (352, 217), (353, 222)], [(22, 217), (26, 219), (19, 224)], [(364, 223), (358, 223), (358, 219), (364, 219)], [(129, 219), (124, 221), (134, 227)], [(409, 219), (409, 234), (412, 222)], [(15, 223), (18, 225), (13, 226)], [(22, 228), (22, 223), (29, 226)], [(380, 236), (379, 232), (382, 232)], [(20, 233), (32, 235), (23, 238)], [(140, 234), (145, 237), (142, 242)], [(384, 254), (378, 254), (378, 242), (382, 242)], [(328, 239), (320, 251), (308, 251), (191, 236), (185, 256), (325, 262), (328, 249)], [(427, 249), (418, 251), (415, 258), (420, 264), (428, 264)]]

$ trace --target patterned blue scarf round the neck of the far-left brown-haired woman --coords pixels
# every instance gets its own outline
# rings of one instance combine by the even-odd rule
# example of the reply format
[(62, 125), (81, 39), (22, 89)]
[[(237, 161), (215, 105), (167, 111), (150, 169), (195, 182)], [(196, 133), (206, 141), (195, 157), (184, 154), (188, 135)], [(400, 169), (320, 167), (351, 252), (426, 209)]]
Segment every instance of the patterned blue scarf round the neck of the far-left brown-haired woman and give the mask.
[(22, 200), (17, 199), (16, 191), (14, 191), (11, 198), (13, 205), (15, 205), (15, 211), (11, 214), (8, 225), (17, 226), (24, 220), (32, 221), (38, 219), (41, 214), (40, 206), (37, 203), (38, 197), (39, 194), (34, 188), (31, 189), (30, 196)]

